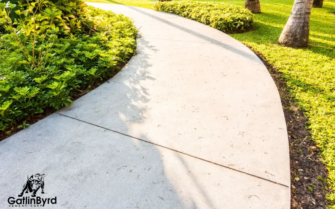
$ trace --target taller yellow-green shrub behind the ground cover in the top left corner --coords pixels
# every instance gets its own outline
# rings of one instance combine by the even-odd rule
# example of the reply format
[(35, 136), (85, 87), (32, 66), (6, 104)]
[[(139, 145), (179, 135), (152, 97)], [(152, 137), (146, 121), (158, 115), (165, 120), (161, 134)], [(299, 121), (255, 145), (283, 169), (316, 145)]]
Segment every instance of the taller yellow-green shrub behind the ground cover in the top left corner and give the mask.
[[(1, 0), (0, 0), (1, 2)], [(6, 1), (7, 2), (7, 1)], [(86, 18), (87, 5), (78, 0), (10, 0), (6, 4), (0, 3), (0, 8), (5, 7), (9, 21), (14, 27), (25, 25), (36, 19), (38, 29), (46, 30), (56, 27), (60, 33), (72, 35), (77, 31), (84, 31), (89, 27)], [(15, 25), (18, 24), (18, 25)], [(92, 25), (90, 25), (92, 26)]]

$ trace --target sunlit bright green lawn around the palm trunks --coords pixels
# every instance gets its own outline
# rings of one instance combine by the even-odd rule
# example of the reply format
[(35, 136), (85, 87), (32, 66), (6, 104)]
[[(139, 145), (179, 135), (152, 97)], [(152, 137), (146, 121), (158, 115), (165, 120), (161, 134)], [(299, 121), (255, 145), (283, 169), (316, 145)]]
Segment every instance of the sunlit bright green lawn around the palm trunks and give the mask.
[[(88, 0), (152, 8), (154, 0)], [(201, 1), (201, 0), (200, 0)], [(244, 0), (214, 0), (244, 5)], [(322, 150), (328, 175), (330, 208), (335, 209), (335, 0), (312, 8), (308, 48), (277, 44), (289, 17), (293, 0), (262, 0), (255, 15), (255, 30), (232, 37), (261, 53), (287, 80), (296, 104), (305, 111), (312, 134)]]

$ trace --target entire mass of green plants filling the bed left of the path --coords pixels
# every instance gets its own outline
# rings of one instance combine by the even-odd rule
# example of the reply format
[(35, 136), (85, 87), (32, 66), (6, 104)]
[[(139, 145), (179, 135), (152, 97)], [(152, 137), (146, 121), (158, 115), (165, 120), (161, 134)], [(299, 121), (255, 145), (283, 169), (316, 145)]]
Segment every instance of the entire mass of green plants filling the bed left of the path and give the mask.
[(136, 49), (132, 20), (82, 1), (22, 0), (0, 9), (0, 130), (70, 105)]

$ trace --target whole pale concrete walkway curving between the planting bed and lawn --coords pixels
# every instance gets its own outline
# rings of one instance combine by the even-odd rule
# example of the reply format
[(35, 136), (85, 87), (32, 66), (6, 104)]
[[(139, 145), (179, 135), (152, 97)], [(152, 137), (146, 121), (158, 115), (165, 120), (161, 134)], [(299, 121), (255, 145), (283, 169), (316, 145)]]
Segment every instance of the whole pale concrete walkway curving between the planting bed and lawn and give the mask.
[(172, 14), (134, 19), (138, 54), (112, 78), (0, 142), (0, 206), (45, 173), (49, 208), (290, 208), (277, 88), (242, 43)]

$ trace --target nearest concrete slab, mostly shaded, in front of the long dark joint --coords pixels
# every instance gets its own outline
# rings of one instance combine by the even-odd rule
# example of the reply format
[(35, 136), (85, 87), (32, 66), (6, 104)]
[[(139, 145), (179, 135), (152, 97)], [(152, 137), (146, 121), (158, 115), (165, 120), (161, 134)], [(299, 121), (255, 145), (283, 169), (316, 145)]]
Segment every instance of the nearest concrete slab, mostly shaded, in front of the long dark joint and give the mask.
[(288, 187), (58, 114), (2, 141), (0, 153), (0, 208), (36, 173), (45, 174), (37, 196), (57, 197), (45, 208), (290, 206)]

